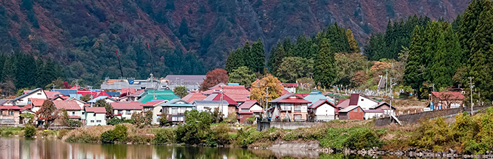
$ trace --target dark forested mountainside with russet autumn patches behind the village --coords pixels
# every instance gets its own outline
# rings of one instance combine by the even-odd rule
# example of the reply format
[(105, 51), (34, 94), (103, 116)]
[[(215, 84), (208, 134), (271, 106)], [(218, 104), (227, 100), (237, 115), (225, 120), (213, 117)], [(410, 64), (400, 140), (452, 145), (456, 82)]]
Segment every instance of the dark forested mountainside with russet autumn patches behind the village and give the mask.
[[(226, 1), (226, 0), (0, 0), (0, 49), (24, 50), (67, 66), (69, 79), (205, 74), (223, 68), (244, 41), (264, 41), (267, 56), (278, 39), (312, 35), (337, 22), (363, 44), (388, 19), (410, 15), (451, 21), (467, 7), (459, 0)], [(360, 45), (361, 46), (361, 45)], [(204, 66), (202, 66), (204, 65)]]

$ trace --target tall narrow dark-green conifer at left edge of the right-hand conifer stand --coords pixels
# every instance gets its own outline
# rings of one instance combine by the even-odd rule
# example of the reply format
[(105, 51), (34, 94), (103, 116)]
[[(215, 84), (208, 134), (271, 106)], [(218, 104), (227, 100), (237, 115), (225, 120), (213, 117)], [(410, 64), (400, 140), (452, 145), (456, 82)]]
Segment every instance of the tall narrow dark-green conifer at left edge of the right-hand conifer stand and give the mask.
[(419, 86), (423, 83), (423, 76), (421, 70), (421, 55), (424, 52), (423, 48), (423, 30), (419, 27), (415, 27), (415, 31), (412, 34), (411, 45), (409, 46), (409, 57), (406, 64), (406, 71), (404, 71), (403, 81), (411, 88), (418, 90)]

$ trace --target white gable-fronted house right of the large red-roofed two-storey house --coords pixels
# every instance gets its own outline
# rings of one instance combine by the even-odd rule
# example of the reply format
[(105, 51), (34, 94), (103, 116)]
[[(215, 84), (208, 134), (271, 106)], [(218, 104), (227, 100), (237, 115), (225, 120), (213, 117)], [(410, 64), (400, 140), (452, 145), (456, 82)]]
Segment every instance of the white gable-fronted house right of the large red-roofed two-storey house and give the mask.
[(330, 121), (335, 120), (335, 113), (339, 111), (337, 106), (328, 100), (317, 100), (311, 106), (308, 107), (313, 114), (315, 114), (315, 121)]

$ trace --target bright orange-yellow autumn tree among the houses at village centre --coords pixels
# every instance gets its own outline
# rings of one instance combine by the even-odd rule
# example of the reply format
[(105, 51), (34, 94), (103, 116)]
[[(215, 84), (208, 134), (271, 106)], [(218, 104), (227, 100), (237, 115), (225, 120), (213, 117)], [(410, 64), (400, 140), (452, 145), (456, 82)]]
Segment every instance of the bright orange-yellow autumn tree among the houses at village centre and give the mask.
[(265, 100), (267, 96), (265, 91), (267, 91), (267, 87), (269, 87), (269, 99), (273, 100), (278, 97), (281, 97), (284, 92), (283, 86), (281, 86), (281, 81), (272, 75), (267, 75), (262, 79), (257, 80), (251, 84), (250, 91), (250, 99), (257, 100), (257, 102), (261, 103), (262, 100)]

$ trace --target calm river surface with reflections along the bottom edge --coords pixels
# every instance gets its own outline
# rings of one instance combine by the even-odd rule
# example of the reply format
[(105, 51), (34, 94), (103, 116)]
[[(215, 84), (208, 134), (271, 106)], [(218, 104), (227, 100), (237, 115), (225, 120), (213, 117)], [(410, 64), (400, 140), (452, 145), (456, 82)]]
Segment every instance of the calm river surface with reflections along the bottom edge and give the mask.
[(315, 151), (171, 147), (142, 144), (79, 144), (55, 139), (0, 138), (0, 158), (367, 158)]

